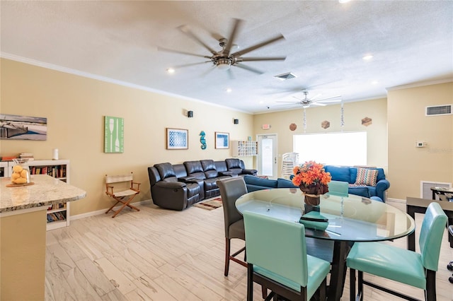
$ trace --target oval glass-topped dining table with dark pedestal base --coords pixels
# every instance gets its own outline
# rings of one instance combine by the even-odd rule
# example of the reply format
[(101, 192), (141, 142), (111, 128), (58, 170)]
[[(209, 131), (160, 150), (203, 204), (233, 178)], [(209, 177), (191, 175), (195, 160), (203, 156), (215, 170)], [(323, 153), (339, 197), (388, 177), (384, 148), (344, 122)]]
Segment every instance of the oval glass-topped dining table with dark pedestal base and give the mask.
[[(306, 206), (297, 188), (252, 191), (236, 200), (240, 213), (253, 211), (305, 225), (305, 236), (333, 241), (328, 300), (340, 300), (346, 277), (346, 256), (353, 242), (394, 240), (411, 234), (415, 221), (389, 204), (348, 194), (321, 195), (319, 206)], [(310, 212), (308, 212), (310, 210)]]

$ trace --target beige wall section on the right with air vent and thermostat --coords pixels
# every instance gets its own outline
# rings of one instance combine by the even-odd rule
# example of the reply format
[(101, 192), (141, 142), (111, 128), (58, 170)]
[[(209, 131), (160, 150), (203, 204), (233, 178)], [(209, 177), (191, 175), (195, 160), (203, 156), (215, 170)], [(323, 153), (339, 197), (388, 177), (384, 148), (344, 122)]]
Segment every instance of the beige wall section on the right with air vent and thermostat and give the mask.
[(391, 197), (420, 197), (420, 181), (453, 182), (453, 115), (425, 117), (426, 106), (452, 103), (453, 83), (389, 91)]

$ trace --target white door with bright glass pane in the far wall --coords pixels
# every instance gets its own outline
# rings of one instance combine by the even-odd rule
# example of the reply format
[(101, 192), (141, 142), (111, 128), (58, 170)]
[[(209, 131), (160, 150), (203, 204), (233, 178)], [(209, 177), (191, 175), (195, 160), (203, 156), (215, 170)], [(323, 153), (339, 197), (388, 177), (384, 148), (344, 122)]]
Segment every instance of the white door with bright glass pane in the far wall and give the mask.
[(277, 134), (258, 135), (258, 175), (277, 179)]

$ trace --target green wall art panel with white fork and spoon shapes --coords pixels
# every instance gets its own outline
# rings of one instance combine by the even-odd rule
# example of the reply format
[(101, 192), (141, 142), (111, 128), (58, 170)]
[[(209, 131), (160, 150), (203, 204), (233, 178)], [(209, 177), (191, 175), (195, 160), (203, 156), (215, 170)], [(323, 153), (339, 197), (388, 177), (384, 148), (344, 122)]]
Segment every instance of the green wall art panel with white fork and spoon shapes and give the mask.
[(104, 116), (104, 153), (124, 151), (125, 119)]

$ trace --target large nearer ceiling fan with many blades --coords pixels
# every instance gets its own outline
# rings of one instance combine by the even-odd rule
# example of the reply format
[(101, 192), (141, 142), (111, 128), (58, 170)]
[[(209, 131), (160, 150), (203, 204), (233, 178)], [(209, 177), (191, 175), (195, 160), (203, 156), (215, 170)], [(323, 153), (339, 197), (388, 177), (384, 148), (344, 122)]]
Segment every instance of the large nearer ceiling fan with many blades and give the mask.
[[(238, 32), (241, 28), (241, 24), (243, 23), (243, 20), (240, 20), (240, 19), (235, 18), (233, 20), (234, 20), (234, 23), (233, 23), (233, 26), (231, 27), (231, 33), (230, 33), (229, 37), (228, 38), (225, 38), (225, 37), (219, 38), (219, 46), (222, 47), (222, 49), (220, 49), (219, 51), (212, 49), (205, 42), (203, 42), (199, 37), (197, 37), (197, 35), (195, 35), (190, 30), (190, 28), (187, 25), (182, 25), (179, 27), (179, 30), (181, 30), (183, 33), (185, 33), (185, 35), (188, 35), (188, 37), (192, 38), (198, 44), (205, 47), (210, 52), (210, 55), (193, 54), (190, 52), (166, 49), (164, 47), (158, 47), (158, 49), (161, 51), (174, 52), (174, 53), (178, 53), (178, 54), (187, 54), (187, 55), (192, 55), (194, 57), (203, 57), (205, 59), (208, 59), (207, 61), (202, 61), (202, 62), (198, 62), (198, 63), (173, 66), (173, 69), (178, 69), (178, 68), (185, 67), (185, 66), (193, 66), (193, 65), (197, 65), (197, 64), (211, 63), (211, 66), (217, 67), (217, 69), (227, 70), (230, 73), (230, 76), (231, 76), (231, 69), (230, 69), (231, 66), (236, 66), (241, 69), (246, 69), (248, 71), (252, 71), (252, 72), (255, 72), (258, 74), (263, 73), (263, 71), (254, 69), (251, 66), (246, 66), (246, 65), (241, 64), (243, 61), (284, 61), (286, 59), (286, 57), (242, 57), (243, 54), (247, 54), (248, 52), (252, 52), (253, 50), (256, 50), (260, 47), (264, 47), (273, 42), (277, 42), (278, 40), (285, 39), (285, 37), (283, 37), (283, 35), (281, 35), (281, 34), (277, 35), (276, 37), (265, 40), (263, 42), (260, 42), (256, 45), (253, 45), (251, 47), (246, 47), (242, 50), (231, 53), (231, 49), (234, 47), (234, 41), (236, 40), (236, 36), (238, 35)], [(213, 69), (215, 69), (215, 68), (213, 68)]]

